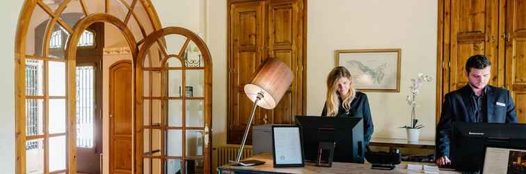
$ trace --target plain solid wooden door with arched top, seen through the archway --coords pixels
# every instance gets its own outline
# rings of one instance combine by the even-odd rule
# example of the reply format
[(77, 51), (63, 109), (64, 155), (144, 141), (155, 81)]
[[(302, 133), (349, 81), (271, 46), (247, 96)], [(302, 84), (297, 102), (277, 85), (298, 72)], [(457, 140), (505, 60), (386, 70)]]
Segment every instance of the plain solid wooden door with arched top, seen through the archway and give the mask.
[(131, 62), (121, 61), (109, 71), (109, 171), (110, 173), (131, 173)]

